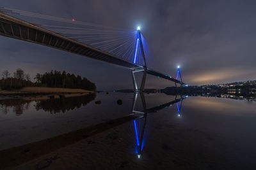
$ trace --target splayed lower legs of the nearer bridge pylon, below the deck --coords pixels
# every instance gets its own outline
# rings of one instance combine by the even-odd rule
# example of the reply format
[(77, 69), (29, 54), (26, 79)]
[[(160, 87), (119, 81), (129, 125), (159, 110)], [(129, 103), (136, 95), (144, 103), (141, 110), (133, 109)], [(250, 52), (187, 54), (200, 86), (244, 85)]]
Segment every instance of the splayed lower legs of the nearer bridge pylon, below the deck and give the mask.
[[(135, 78), (135, 73), (138, 73), (138, 72), (143, 72), (140, 89), (138, 88), (138, 84)], [(132, 70), (132, 82), (133, 82), (134, 92), (143, 92), (145, 90), (146, 78), (147, 78), (147, 67), (144, 66), (143, 68)]]

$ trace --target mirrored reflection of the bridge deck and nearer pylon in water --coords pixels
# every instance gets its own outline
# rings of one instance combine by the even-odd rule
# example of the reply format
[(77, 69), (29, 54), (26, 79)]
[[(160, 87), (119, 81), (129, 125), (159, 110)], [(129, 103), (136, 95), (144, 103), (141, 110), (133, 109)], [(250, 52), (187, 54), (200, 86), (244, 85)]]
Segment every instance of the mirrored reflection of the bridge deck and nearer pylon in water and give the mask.
[[(134, 111), (133, 106), (134, 103), (136, 103), (139, 95), (144, 103), (142, 104), (143, 110)], [(100, 124), (87, 126), (83, 129), (78, 129), (76, 131), (60, 134), (52, 138), (43, 139), (41, 141), (28, 143), (26, 145), (17, 146), (14, 148), (8, 148), (6, 150), (1, 150), (0, 155), (4, 155), (4, 157), (0, 158), (1, 167), (3, 167), (4, 169), (12, 169), (13, 167), (17, 167), (20, 164), (24, 164), (24, 162), (28, 162), (29, 160), (36, 159), (38, 157), (42, 157), (42, 155), (49, 154), (51, 152), (59, 150), (60, 148), (72, 145), (74, 143), (77, 143), (78, 141), (90, 138), (92, 136), (95, 136), (96, 134), (106, 132), (110, 129), (113, 129), (120, 125), (124, 125), (125, 123), (129, 122), (133, 124), (132, 127), (134, 128), (134, 139), (136, 144), (135, 153), (140, 158), (146, 143), (145, 137), (147, 136), (146, 134), (148, 115), (156, 113), (159, 110), (163, 110), (164, 108), (173, 106), (176, 103), (183, 101), (183, 99), (184, 97), (180, 97), (179, 99), (175, 98), (173, 101), (170, 101), (168, 103), (164, 103), (153, 108), (147, 108), (144, 94), (134, 94), (134, 103), (132, 103), (131, 110), (132, 114), (120, 118), (115, 118), (107, 122), (102, 122)], [(29, 152), (26, 152), (26, 154), (24, 155), (24, 150), (28, 150), (28, 148)]]

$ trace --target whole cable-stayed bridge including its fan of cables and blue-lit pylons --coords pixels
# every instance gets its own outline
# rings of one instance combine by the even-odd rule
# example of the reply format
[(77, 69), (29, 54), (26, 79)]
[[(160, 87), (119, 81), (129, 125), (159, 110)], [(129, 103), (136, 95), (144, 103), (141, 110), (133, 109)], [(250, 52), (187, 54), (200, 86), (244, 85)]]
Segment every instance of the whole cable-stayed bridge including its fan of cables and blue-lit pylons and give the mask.
[[(11, 15), (64, 22), (66, 25), (36, 25)], [(83, 27), (74, 27), (74, 25)], [(145, 89), (147, 74), (173, 81), (175, 85), (177, 83), (181, 86), (185, 85), (181, 76), (178, 80), (178, 76), (172, 78), (172, 76), (154, 71), (147, 66), (147, 43), (141, 34), (140, 27), (137, 31), (119, 31), (103, 25), (79, 22), (75, 18), (58, 18), (27, 11), (0, 8), (0, 35), (132, 69), (135, 91)], [(138, 72), (143, 72), (140, 87), (138, 87), (135, 78), (135, 73)]]

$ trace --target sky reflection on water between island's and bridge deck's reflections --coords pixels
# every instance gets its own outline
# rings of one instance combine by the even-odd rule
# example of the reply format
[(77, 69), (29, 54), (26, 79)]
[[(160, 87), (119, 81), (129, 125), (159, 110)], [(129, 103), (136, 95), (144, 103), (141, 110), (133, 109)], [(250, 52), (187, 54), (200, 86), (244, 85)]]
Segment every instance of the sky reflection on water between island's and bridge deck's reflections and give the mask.
[[(133, 94), (99, 93), (96, 99), (86, 106), (56, 114), (36, 110), (35, 101), (31, 102), (28, 110), (25, 109), (19, 116), (13, 107), (5, 113), (4, 106), (0, 105), (0, 150), (129, 115), (132, 96)], [(116, 103), (118, 99), (122, 99), (122, 105)], [(95, 104), (97, 100), (102, 103)]]

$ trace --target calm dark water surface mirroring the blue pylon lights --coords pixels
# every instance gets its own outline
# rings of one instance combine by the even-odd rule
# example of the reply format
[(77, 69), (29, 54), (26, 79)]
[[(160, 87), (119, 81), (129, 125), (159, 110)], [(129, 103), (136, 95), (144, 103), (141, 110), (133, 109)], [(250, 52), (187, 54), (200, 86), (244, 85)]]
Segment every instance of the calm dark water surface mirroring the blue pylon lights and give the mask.
[[(111, 123), (19, 169), (256, 169), (256, 103), (144, 96), (147, 117), (128, 121), (134, 94), (0, 100), (0, 150), (12, 152), (16, 146), (114, 120), (118, 125)], [(140, 95), (133, 110), (145, 111)]]

